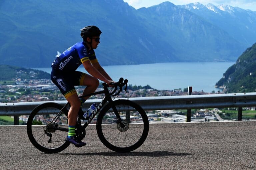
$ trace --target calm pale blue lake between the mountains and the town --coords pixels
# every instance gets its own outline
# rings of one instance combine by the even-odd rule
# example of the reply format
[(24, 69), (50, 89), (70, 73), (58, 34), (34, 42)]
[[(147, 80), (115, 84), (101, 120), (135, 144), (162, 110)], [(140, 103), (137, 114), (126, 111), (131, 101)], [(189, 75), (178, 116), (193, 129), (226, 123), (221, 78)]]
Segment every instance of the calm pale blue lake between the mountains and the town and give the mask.
[[(131, 85), (150, 85), (159, 90), (173, 90), (192, 86), (192, 91), (212, 92), (214, 85), (235, 62), (181, 62), (140, 65), (104, 66), (114, 81), (120, 77)], [(51, 73), (51, 68), (33, 68)], [(80, 66), (78, 71), (86, 72)]]

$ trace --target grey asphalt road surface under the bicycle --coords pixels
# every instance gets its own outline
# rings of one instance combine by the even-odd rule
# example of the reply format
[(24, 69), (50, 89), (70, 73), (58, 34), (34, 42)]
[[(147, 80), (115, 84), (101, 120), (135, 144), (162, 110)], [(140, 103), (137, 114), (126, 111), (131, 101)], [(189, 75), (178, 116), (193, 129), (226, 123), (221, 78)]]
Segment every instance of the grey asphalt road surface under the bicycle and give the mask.
[(116, 153), (86, 129), (87, 146), (45, 154), (29, 141), (26, 126), (0, 126), (0, 169), (256, 169), (256, 122), (150, 124), (144, 144)]

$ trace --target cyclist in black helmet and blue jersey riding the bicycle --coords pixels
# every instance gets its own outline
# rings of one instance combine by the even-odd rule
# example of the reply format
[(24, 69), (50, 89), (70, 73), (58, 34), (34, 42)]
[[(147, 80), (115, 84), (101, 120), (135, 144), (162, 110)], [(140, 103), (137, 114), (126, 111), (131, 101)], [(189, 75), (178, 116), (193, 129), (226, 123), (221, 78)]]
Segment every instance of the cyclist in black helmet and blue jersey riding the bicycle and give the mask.
[[(68, 111), (68, 136), (66, 137), (66, 141), (77, 147), (86, 145), (85, 142), (77, 138), (75, 126), (77, 116), (84, 119), (80, 106), (89, 96), (79, 99), (74, 86), (86, 85), (82, 94), (85, 95), (93, 93), (97, 89), (99, 85), (98, 79), (108, 85), (113, 83), (110, 76), (98, 63), (94, 52), (94, 49), (100, 43), (100, 29), (96, 26), (87, 26), (80, 31), (83, 42), (76, 43), (62, 54), (57, 55), (57, 58), (52, 63), (51, 72), (52, 82), (57, 85), (61, 93), (70, 103), (70, 109)], [(92, 76), (76, 71), (81, 64), (83, 64), (85, 70)]]

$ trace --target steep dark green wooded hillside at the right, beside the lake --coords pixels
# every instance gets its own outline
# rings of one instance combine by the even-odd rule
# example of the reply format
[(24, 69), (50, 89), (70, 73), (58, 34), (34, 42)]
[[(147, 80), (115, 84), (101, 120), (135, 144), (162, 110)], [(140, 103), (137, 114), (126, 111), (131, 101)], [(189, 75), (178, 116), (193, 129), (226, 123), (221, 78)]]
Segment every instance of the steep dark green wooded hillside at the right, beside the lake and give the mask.
[(228, 93), (256, 91), (256, 43), (228, 68), (216, 86), (225, 87)]

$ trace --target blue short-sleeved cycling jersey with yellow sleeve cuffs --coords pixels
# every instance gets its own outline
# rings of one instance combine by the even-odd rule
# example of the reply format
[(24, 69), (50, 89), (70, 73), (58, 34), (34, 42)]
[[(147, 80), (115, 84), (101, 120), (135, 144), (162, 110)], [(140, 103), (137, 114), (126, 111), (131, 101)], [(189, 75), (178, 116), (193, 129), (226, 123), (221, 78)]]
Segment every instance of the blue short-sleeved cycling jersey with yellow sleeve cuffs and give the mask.
[(94, 50), (88, 49), (84, 42), (76, 43), (53, 61), (52, 68), (57, 71), (72, 72), (85, 61), (90, 60), (91, 63), (97, 63)]

